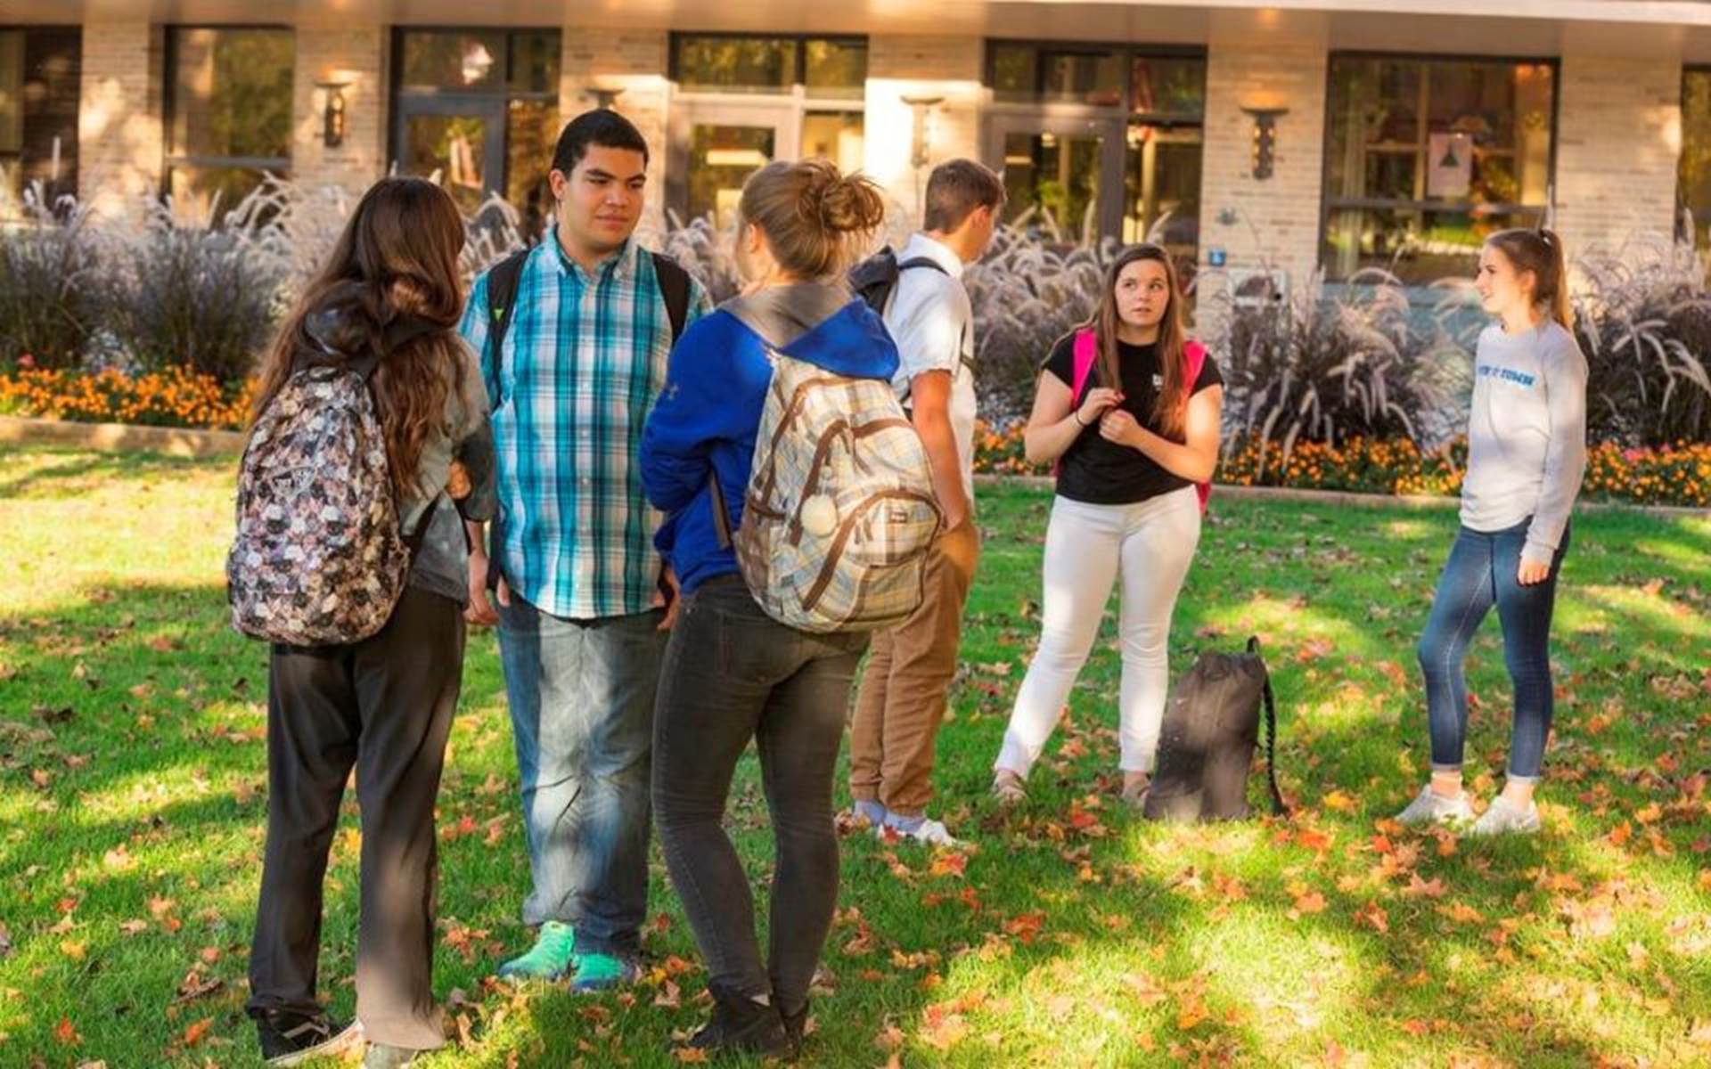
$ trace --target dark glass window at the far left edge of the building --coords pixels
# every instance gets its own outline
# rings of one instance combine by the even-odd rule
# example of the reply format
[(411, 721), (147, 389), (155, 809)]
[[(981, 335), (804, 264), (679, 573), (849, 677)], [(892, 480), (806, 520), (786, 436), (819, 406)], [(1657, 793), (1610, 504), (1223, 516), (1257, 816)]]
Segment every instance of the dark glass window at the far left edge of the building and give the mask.
[(41, 183), (51, 204), (77, 193), (77, 29), (0, 31), (0, 219)]

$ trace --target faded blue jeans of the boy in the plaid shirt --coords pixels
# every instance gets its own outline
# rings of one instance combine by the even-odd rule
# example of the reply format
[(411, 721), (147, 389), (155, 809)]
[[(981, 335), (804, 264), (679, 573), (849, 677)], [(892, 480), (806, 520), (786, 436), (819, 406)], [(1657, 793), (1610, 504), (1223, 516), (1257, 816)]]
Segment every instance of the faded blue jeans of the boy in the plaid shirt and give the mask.
[(498, 612), (534, 877), (524, 922), (561, 920), (578, 951), (633, 954), (647, 915), (660, 612), (563, 619), (515, 594)]

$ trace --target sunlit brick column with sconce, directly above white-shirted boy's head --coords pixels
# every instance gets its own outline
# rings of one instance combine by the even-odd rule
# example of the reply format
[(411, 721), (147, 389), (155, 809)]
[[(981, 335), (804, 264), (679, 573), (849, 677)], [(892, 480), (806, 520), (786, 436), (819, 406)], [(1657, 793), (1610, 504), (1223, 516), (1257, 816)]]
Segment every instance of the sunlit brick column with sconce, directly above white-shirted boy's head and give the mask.
[[(867, 38), (866, 171), (885, 186), (897, 207), (921, 226), (921, 193), (927, 173), (946, 159), (980, 159), (979, 38)], [(927, 162), (910, 162), (915, 109), (905, 96), (941, 96), (927, 121)], [(893, 227), (895, 229), (895, 227)]]

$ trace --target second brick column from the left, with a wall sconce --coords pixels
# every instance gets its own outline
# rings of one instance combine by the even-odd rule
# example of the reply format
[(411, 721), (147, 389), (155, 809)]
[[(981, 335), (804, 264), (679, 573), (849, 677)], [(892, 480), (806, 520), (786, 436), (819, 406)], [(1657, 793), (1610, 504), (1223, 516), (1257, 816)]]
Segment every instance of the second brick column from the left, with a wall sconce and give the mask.
[[(347, 82), (344, 142), (323, 139), (327, 89)], [(298, 29), (291, 92), (291, 178), (306, 186), (340, 186), (359, 195), (387, 173), (387, 31)]]

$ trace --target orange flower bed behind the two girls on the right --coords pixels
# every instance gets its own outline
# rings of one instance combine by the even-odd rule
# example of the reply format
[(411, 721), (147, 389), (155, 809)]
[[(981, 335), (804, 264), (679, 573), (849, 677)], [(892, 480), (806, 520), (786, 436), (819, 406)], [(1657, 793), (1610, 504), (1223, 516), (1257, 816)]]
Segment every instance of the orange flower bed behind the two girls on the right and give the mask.
[[(1461, 493), (1466, 458), (1468, 446), (1459, 438), (1446, 450), (1424, 453), (1406, 440), (1352, 438), (1341, 445), (1302, 441), (1288, 460), (1278, 446), (1263, 453), (1258, 440), (1247, 440), (1218, 462), (1218, 482), (1454, 496)], [(1001, 475), (1047, 474), (1027, 462), (1021, 424), (1006, 431), (980, 428), (975, 436), (975, 470)], [(1595, 445), (1590, 448), (1581, 494), (1595, 501), (1711, 506), (1711, 443), (1682, 441), (1660, 450)]]

